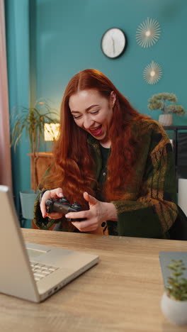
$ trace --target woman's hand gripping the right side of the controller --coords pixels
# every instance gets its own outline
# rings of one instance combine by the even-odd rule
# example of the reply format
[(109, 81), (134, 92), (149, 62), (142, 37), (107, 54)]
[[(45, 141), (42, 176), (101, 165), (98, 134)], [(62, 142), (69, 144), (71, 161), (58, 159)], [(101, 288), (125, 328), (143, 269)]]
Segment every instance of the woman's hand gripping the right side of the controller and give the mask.
[(72, 221), (72, 224), (81, 232), (96, 231), (101, 223), (106, 220), (117, 221), (117, 211), (114, 204), (98, 201), (87, 192), (84, 192), (84, 199), (89, 202), (89, 210), (69, 212), (66, 218), (86, 218), (85, 221)]

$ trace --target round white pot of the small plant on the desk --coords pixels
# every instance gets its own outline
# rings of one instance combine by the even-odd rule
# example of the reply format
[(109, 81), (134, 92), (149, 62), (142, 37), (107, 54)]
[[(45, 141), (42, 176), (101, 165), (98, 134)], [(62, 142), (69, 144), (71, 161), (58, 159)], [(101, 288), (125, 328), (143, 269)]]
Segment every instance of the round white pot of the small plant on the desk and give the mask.
[(176, 325), (187, 324), (187, 301), (171, 299), (166, 292), (164, 292), (161, 300), (161, 309), (170, 323)]

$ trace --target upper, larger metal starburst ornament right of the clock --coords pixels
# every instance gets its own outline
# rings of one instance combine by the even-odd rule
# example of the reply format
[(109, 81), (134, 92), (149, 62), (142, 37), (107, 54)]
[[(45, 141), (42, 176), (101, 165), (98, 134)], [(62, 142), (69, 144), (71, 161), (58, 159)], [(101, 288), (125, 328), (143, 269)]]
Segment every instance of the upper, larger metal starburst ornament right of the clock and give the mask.
[(136, 40), (137, 44), (142, 48), (150, 48), (152, 45), (157, 43), (161, 29), (159, 22), (153, 18), (147, 18), (137, 28)]

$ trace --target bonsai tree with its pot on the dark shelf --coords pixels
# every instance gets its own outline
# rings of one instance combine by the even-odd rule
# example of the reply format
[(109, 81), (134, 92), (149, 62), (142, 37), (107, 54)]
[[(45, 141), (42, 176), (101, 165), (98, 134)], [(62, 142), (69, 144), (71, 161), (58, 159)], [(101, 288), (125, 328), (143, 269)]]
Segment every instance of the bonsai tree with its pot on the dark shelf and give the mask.
[(177, 98), (175, 94), (167, 92), (163, 92), (162, 94), (154, 94), (149, 99), (148, 109), (151, 111), (154, 109), (160, 109), (164, 114), (159, 116), (159, 123), (161, 123), (162, 126), (171, 126), (173, 124), (172, 114), (183, 115), (186, 113), (183, 106), (174, 104), (176, 101)]

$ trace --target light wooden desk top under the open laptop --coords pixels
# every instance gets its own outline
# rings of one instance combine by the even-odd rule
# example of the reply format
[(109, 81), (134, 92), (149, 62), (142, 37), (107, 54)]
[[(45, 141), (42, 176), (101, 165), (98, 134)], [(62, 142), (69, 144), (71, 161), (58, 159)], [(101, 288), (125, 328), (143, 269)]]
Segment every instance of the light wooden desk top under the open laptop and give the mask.
[(159, 251), (187, 251), (187, 241), (23, 229), (25, 240), (96, 253), (100, 262), (55, 295), (33, 304), (0, 294), (2, 332), (178, 332), (160, 311)]

